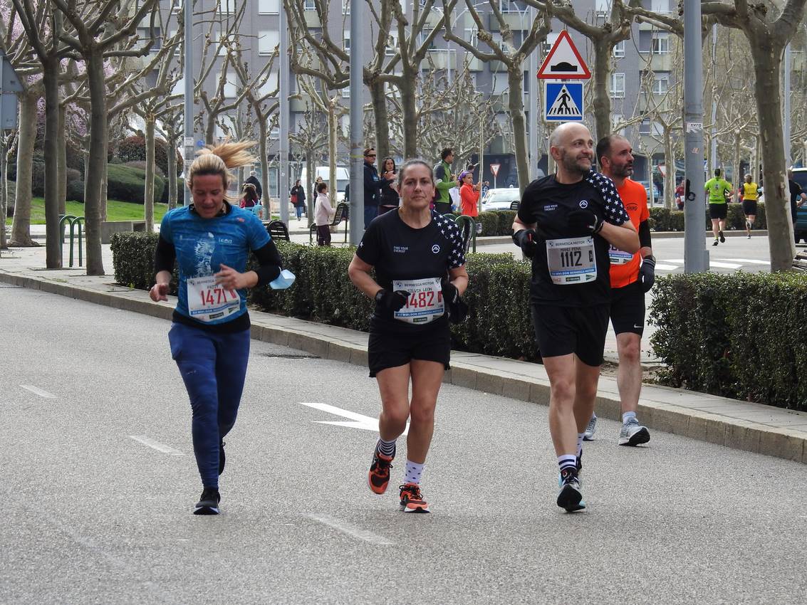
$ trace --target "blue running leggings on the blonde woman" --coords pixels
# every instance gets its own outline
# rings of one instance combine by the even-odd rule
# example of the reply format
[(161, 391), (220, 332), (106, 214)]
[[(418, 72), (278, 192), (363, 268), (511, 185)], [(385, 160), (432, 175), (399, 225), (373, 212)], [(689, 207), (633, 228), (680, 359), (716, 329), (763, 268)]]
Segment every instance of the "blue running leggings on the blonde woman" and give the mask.
[(182, 323), (168, 332), (193, 411), (191, 434), (204, 487), (219, 486), (219, 441), (236, 424), (249, 359), (249, 330), (216, 334)]

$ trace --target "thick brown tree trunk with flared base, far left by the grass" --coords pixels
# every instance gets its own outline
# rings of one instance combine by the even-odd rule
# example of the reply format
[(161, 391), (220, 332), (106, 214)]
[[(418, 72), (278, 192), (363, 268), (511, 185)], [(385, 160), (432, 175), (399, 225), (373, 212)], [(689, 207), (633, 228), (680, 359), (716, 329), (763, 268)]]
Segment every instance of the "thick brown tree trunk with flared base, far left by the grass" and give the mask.
[(12, 246), (34, 246), (31, 240), (31, 171), (36, 140), (36, 104), (40, 95), (19, 95), (19, 140), (17, 142), (17, 189), (14, 222), (11, 223)]

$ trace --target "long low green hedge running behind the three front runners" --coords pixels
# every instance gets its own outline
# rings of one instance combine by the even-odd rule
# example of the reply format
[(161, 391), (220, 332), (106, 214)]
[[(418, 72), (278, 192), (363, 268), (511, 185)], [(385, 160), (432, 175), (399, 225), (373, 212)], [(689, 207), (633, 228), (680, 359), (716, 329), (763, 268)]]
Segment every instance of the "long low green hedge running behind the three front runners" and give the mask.
[[(154, 283), (157, 234), (116, 233), (111, 238), (115, 282), (148, 290)], [(348, 277), (353, 248), (327, 248), (277, 242), (283, 267), (295, 273), (288, 290), (250, 290), (249, 303), (261, 311), (281, 313), (366, 332), (374, 303)], [(525, 359), (537, 349), (529, 316), (529, 263), (502, 254), (468, 254), (469, 318), (452, 326), (455, 347)], [(177, 294), (174, 270), (170, 294)]]

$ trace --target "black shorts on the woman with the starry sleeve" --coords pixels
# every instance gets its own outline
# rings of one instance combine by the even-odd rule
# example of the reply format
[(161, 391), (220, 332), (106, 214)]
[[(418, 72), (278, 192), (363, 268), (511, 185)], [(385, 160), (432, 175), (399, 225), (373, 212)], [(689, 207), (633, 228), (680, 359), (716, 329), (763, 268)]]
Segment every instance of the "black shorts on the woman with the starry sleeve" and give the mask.
[(367, 365), (370, 378), (383, 369), (407, 365), (413, 359), (437, 361), (450, 369), (451, 332), (448, 323), (433, 330), (412, 332), (370, 331)]

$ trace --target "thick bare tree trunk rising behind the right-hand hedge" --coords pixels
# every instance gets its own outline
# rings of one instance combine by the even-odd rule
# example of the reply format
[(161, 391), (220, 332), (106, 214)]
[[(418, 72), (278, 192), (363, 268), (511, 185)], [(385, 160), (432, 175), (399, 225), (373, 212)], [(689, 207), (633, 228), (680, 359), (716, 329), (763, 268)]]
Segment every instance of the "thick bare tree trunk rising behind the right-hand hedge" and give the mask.
[(765, 183), (765, 218), (771, 251), (771, 271), (792, 268), (796, 245), (792, 237), (788, 178), (784, 171), (784, 136), (781, 115), (781, 56), (773, 48), (751, 47), (755, 55), (755, 98), (762, 144)]

